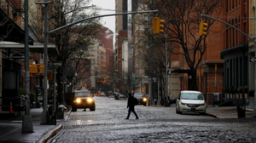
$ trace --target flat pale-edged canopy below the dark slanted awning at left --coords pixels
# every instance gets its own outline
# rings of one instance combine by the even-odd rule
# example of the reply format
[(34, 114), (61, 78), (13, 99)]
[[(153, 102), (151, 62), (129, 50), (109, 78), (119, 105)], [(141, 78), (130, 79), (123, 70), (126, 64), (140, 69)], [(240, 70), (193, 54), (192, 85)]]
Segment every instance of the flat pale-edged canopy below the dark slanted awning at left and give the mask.
[[(55, 48), (55, 44), (48, 43), (48, 54), (59, 54), (58, 49)], [(0, 42), (0, 49), (14, 49), (20, 53), (24, 53), (25, 46), (23, 43), (12, 43), (12, 42)], [(34, 43), (29, 45), (29, 52), (32, 53), (44, 53), (44, 43)]]

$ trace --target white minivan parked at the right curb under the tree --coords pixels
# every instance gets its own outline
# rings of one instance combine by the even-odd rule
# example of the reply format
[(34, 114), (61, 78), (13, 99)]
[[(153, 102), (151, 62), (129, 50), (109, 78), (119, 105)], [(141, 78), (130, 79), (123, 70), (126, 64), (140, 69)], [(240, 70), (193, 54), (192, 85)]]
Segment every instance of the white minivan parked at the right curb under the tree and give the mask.
[(176, 101), (176, 113), (197, 112), (206, 114), (207, 104), (200, 91), (183, 90)]

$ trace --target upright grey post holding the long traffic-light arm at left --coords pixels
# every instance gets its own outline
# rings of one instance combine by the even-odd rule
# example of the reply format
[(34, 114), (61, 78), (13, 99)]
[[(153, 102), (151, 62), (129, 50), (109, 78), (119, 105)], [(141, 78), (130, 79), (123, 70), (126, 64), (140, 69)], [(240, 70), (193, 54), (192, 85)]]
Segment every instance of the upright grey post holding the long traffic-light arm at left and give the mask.
[(44, 0), (44, 99), (43, 99), (43, 112), (41, 115), (41, 124), (47, 123), (47, 69), (48, 69), (48, 0)]

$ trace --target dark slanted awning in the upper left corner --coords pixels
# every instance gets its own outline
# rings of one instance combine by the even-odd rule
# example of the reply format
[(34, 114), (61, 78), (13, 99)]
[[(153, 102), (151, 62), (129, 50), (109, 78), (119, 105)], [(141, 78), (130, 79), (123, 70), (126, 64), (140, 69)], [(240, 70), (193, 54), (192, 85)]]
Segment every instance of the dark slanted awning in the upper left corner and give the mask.
[[(25, 43), (25, 31), (18, 26), (14, 20), (5, 14), (3, 9), (0, 9), (0, 39), (1, 41), (9, 41), (15, 43)], [(28, 43), (32, 45), (34, 40), (29, 37)]]

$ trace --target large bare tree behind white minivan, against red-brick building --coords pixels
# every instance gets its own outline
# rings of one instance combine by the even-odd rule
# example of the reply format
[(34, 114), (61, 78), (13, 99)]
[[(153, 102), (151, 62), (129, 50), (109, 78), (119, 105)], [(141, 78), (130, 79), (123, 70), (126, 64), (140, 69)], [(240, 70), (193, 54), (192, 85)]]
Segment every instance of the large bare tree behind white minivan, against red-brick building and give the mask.
[[(192, 76), (189, 89), (198, 89), (196, 70), (207, 49), (207, 36), (198, 35), (201, 14), (218, 17), (223, 9), (223, 0), (160, 0), (148, 5), (150, 9), (159, 10), (159, 14), (153, 16), (165, 20), (167, 43), (174, 46), (172, 54), (183, 55), (188, 64)], [(204, 21), (208, 24), (208, 29), (214, 22), (211, 19)]]

